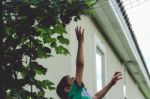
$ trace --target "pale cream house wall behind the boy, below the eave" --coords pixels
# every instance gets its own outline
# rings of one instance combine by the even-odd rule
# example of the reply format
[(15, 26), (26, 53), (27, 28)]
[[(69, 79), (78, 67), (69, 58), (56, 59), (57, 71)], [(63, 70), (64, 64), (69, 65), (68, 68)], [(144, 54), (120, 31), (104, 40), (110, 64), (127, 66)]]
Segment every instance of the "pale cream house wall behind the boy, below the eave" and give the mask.
[[(93, 96), (96, 93), (96, 73), (95, 73), (95, 54), (96, 54), (96, 42), (100, 46), (104, 53), (104, 66), (103, 66), (103, 86), (108, 83), (115, 71), (123, 72), (123, 66), (120, 63), (117, 56), (114, 54), (113, 50), (101, 35), (100, 31), (97, 29), (93, 21), (85, 16), (82, 16), (82, 20), (76, 22), (71, 22), (67, 26), (68, 38), (70, 40), (70, 45), (68, 49), (70, 55), (54, 55), (55, 57), (45, 60), (39, 60), (39, 62), (48, 68), (47, 75), (41, 79), (49, 79), (58, 84), (60, 79), (64, 75), (75, 75), (75, 61), (77, 54), (77, 40), (74, 28), (76, 26), (81, 26), (85, 29), (85, 39), (84, 39), (84, 77), (83, 82), (87, 87), (89, 93)], [(98, 41), (97, 39), (98, 38)], [(130, 76), (127, 74), (126, 82), (127, 84), (127, 99), (144, 99), (137, 86), (134, 84)], [(107, 93), (106, 99), (124, 99), (123, 95), (123, 85), (124, 80), (121, 80), (117, 85), (113, 86), (112, 89)], [(132, 88), (132, 90), (130, 90)], [(137, 92), (137, 94), (132, 94), (132, 92)], [(47, 96), (52, 96), (54, 99), (59, 99), (56, 95), (55, 90), (47, 92)]]

